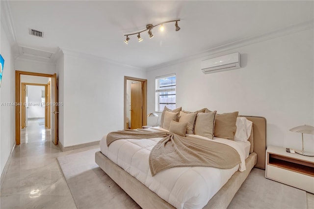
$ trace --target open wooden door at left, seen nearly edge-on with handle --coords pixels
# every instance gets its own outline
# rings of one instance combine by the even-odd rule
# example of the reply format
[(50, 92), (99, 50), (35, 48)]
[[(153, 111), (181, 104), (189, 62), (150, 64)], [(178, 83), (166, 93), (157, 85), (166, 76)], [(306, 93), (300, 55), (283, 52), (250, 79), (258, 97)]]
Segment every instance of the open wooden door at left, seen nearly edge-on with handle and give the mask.
[(53, 74), (51, 77), (51, 137), (52, 142), (58, 144), (58, 88), (57, 75)]

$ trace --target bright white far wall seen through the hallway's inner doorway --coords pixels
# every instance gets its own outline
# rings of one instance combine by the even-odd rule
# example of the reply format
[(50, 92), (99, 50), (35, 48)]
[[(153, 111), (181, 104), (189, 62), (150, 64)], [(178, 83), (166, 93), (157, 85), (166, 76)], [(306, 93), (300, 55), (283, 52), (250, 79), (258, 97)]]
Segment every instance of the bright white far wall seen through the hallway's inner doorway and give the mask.
[(45, 91), (45, 86), (27, 85), (28, 106), (27, 118), (44, 118), (45, 106), (41, 105), (41, 91)]

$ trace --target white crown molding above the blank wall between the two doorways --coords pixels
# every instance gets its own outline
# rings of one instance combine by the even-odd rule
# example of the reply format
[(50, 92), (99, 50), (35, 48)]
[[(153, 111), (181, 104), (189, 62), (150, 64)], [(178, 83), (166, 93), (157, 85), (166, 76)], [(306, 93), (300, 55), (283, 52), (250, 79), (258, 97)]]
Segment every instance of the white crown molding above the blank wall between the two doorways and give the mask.
[(108, 63), (111, 63), (111, 64), (116, 64), (116, 65), (119, 65), (119, 66), (132, 68), (132, 69), (135, 69), (135, 70), (145, 70), (145, 71), (147, 70), (146, 68), (139, 68), (139, 67), (134, 67), (134, 66), (131, 66), (131, 65), (123, 64), (123, 63), (120, 63), (120, 62), (117, 62), (117, 61), (114, 61), (114, 60), (111, 60), (111, 59), (108, 59), (108, 58), (105, 58), (105, 57), (102, 57), (102, 56), (87, 54), (87, 53), (84, 53), (84, 52), (77, 52), (77, 51), (66, 49), (66, 48), (60, 48), (60, 49), (62, 50), (62, 52), (64, 54), (71, 55), (71, 56), (76, 56), (76, 57), (80, 57), (80, 58), (84, 57), (84, 58), (88, 58), (88, 59), (102, 60), (102, 61), (105, 61), (105, 62), (108, 62)]

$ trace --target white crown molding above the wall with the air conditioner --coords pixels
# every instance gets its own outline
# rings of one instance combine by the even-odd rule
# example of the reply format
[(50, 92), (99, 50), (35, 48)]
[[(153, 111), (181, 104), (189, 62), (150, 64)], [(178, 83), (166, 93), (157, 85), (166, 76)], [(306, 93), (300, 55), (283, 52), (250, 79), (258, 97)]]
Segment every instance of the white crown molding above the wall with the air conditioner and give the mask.
[(262, 35), (250, 36), (250, 37), (240, 39), (240, 40), (237, 40), (234, 42), (222, 44), (222, 45), (219, 45), (217, 47), (206, 50), (204, 52), (199, 52), (199, 53), (192, 54), (190, 56), (186, 56), (186, 57), (183, 57), (180, 59), (176, 59), (173, 61), (158, 64), (158, 65), (155, 65), (152, 67), (148, 67), (147, 71), (154, 71), (154, 70), (160, 69), (162, 67), (171, 66), (171, 65), (178, 64), (181, 62), (186, 62), (186, 61), (190, 61), (193, 59), (202, 58), (202, 57), (213, 55), (213, 54), (220, 53), (220, 52), (234, 50), (234, 49), (237, 49), (240, 47), (244, 47), (247, 45), (252, 45), (252, 44), (259, 43), (259, 42), (267, 41), (267, 40), (274, 39), (274, 38), (281, 37), (281, 36), (285, 36), (285, 35), (288, 35), (291, 33), (299, 32), (299, 31), (303, 31), (303, 30), (308, 30), (308, 29), (313, 29), (313, 27), (314, 27), (314, 20), (306, 21), (306, 22), (303, 22), (303, 23), (300, 23), (297, 25), (288, 26), (288, 27), (285, 27), (282, 29), (278, 29), (278, 30), (274, 30), (274, 31), (271, 31), (268, 33), (264, 33)]

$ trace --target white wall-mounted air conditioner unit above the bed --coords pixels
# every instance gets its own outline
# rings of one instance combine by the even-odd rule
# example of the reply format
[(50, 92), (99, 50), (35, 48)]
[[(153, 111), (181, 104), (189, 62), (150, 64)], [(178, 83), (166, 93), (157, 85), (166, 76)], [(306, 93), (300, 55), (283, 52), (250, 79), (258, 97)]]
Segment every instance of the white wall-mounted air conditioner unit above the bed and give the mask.
[(206, 59), (201, 62), (201, 69), (205, 74), (233, 70), (240, 67), (239, 52), (215, 57), (212, 59)]

